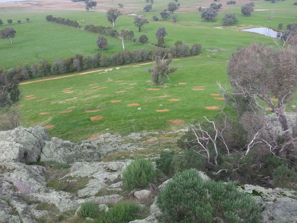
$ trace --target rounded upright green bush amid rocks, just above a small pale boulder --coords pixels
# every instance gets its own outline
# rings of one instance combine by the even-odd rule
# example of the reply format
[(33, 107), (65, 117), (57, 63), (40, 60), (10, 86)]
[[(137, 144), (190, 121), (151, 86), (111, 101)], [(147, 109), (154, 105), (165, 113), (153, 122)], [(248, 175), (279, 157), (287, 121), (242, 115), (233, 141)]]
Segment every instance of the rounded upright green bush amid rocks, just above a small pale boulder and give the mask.
[(122, 173), (122, 181), (128, 190), (144, 188), (156, 177), (151, 161), (135, 158)]

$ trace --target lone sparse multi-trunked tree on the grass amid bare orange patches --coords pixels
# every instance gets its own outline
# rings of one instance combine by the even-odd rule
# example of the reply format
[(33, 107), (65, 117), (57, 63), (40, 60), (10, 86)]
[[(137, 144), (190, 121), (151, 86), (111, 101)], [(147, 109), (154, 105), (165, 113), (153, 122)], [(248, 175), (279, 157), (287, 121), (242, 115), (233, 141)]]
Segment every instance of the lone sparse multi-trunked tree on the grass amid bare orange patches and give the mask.
[(154, 84), (163, 84), (167, 78), (169, 79), (169, 75), (178, 68), (172, 67), (172, 58), (165, 60), (166, 56), (166, 54), (164, 56), (153, 56), (152, 60), (155, 62), (154, 66), (146, 68), (146, 71), (151, 73), (151, 80)]

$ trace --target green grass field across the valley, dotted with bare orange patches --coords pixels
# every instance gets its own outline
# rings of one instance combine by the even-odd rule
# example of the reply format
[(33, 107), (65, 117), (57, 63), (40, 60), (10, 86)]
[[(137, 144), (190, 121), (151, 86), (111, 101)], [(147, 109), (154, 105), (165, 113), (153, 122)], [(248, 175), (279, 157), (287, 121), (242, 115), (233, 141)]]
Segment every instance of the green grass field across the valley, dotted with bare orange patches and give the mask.
[[(120, 3), (119, 0), (113, 2), (116, 5)], [(209, 4), (212, 2), (209, 1)], [(183, 1), (178, 1), (178, 3), (182, 5)], [(187, 1), (187, 4), (190, 3), (194, 4), (197, 1)], [(170, 131), (184, 127), (185, 124), (168, 123), (168, 120), (183, 120), (185, 123), (192, 123), (194, 120), (203, 118), (204, 115), (215, 116), (218, 114), (217, 110), (208, 110), (205, 107), (222, 108), (224, 104), (222, 100), (214, 99), (220, 96), (211, 94), (218, 94), (217, 81), (223, 84), (228, 82), (226, 65), (229, 55), (236, 50), (238, 45), (246, 46), (254, 39), (256, 42), (263, 41), (268, 45), (275, 45), (269, 37), (239, 32), (238, 27), (268, 26), (277, 29), (278, 24), (283, 23), (285, 29), (287, 23), (296, 20), (296, 6), (293, 6), (293, 3), (292, 0), (279, 1), (274, 4), (256, 1), (257, 7), (254, 7), (254, 10), (269, 10), (254, 11), (249, 17), (241, 14), (240, 5), (234, 5), (226, 12), (222, 11), (239, 13), (236, 15), (239, 22), (232, 24), (231, 27), (223, 26), (221, 18), (224, 14), (219, 14), (215, 21), (206, 22), (200, 18), (198, 10), (197, 12), (178, 13), (176, 23), (172, 22), (171, 16), (168, 21), (152, 21), (153, 15), (161, 19), (158, 10), (162, 10), (168, 4), (162, 1), (154, 1), (152, 12), (141, 11), (146, 2), (139, 1), (133, 5), (124, 5), (124, 8), (133, 6), (136, 14), (146, 15), (145, 18), (150, 23), (143, 26), (142, 32), (137, 32), (138, 28), (133, 24), (134, 17), (123, 15), (116, 21), (117, 30), (133, 30), (135, 38), (146, 34), (149, 37), (148, 43), (151, 44), (157, 43), (155, 32), (159, 26), (164, 26), (168, 32), (168, 36), (165, 36), (167, 46), (174, 45), (176, 40), (182, 40), (187, 44), (199, 43), (202, 45), (201, 55), (194, 58), (176, 58), (179, 60), (174, 61), (173, 65), (181, 66), (181, 68), (170, 76), (171, 81), (165, 81), (162, 86), (146, 82), (150, 80), (150, 74), (145, 71), (145, 67), (152, 66), (152, 64), (140, 67), (131, 65), (102, 74), (99, 73), (104, 71), (22, 84), (20, 89), (23, 90), (24, 98), (20, 102), (23, 106), (19, 108), (23, 115), (21, 124), (28, 127), (53, 125), (48, 128), (50, 136), (78, 142), (87, 139), (92, 134), (105, 132), (127, 135), (132, 132)], [(68, 56), (75, 56), (75, 54), (86, 56), (99, 52), (96, 45), (97, 34), (45, 21), (46, 15), (77, 21), (90, 18), (99, 21), (95, 25), (110, 26), (110, 23), (104, 22), (105, 12), (34, 10), (33, 13), (33, 9), (22, 8), (0, 10), (1, 19), (4, 21), (4, 25), (0, 28), (7, 27), (6, 20), (12, 19), (14, 24), (9, 27), (17, 31), (13, 39), (14, 45), (10, 45), (8, 40), (0, 40), (1, 69), (9, 69), (23, 62), (31, 64), (41, 59), (51, 62), (57, 57), (64, 59)], [(271, 22), (267, 22), (271, 11), (274, 11), (275, 16)], [(178, 12), (182, 12), (182, 8)], [(27, 23), (25, 18), (30, 18), (30, 22)], [(17, 20), (23, 22), (15, 24)], [(83, 27), (85, 24), (80, 25)], [(122, 51), (119, 39), (107, 38), (109, 47), (103, 53), (112, 55), (114, 52)], [(152, 45), (129, 41), (125, 42), (125, 47), (129, 51), (142, 47), (148, 50), (154, 48)], [(222, 53), (212, 53), (207, 49), (218, 49)], [(106, 82), (108, 78), (113, 81)], [(199, 86), (205, 86), (200, 87), (204, 90), (193, 90)], [(147, 90), (150, 88), (159, 90)], [(71, 93), (63, 92), (65, 90)], [(125, 92), (115, 93), (118, 91)], [(29, 95), (33, 96), (26, 97)], [(158, 98), (160, 96), (169, 97)], [(179, 99), (179, 101), (169, 101), (169, 99)], [(113, 100), (121, 101), (112, 103)], [(140, 105), (127, 106), (132, 103)], [(142, 110), (137, 110), (139, 107)], [(169, 111), (156, 112), (162, 109)], [(86, 112), (94, 110), (98, 111)], [(71, 112), (60, 113), (67, 111)], [(43, 112), (47, 114), (40, 114)], [(91, 118), (96, 116), (102, 116), (102, 119), (91, 121)]]

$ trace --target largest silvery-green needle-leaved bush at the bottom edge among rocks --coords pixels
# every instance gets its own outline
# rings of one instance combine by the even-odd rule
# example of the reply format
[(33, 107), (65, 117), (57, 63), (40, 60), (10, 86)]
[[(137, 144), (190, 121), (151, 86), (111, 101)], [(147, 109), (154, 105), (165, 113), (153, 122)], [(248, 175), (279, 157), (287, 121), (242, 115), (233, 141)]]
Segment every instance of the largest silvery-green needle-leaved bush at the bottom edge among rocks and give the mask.
[(232, 183), (203, 181), (198, 170), (188, 169), (174, 175), (157, 198), (163, 223), (257, 223), (260, 206), (249, 194)]

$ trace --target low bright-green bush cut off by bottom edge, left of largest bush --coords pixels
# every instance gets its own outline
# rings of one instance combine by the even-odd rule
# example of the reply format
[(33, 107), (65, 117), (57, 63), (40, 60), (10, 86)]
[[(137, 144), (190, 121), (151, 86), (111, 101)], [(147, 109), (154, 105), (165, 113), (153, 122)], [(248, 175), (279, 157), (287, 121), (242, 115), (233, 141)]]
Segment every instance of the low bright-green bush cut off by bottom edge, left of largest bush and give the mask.
[(138, 219), (140, 205), (123, 201), (113, 205), (108, 212), (102, 212), (95, 219), (96, 223), (127, 223)]

